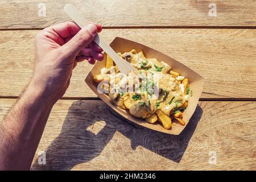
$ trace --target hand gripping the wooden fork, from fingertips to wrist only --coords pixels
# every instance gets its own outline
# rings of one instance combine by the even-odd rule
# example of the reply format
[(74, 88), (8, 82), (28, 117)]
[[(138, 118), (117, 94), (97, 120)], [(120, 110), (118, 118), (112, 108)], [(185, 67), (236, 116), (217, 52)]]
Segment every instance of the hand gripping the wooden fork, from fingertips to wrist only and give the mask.
[(64, 22), (44, 28), (35, 38), (35, 68), (30, 86), (52, 102), (67, 90), (72, 69), (78, 62), (94, 64), (102, 60), (102, 49), (93, 42), (99, 24), (80, 28), (74, 22)]

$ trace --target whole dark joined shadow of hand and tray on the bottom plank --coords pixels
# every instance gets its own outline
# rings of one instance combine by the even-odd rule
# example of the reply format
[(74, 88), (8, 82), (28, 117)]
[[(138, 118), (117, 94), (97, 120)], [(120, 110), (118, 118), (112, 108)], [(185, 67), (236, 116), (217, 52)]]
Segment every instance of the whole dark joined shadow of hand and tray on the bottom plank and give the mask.
[[(108, 107), (108, 109), (106, 109)], [(100, 155), (115, 131), (131, 140), (131, 148), (142, 146), (179, 163), (184, 155), (203, 110), (197, 106), (188, 126), (180, 135), (150, 130), (135, 123), (122, 123), (122, 118), (102, 101), (75, 101), (69, 107), (59, 136), (46, 150), (47, 163), (35, 163), (36, 170), (70, 170)], [(113, 117), (115, 115), (116, 117)], [(96, 124), (97, 123), (97, 124)], [(125, 156), (124, 156), (125, 157)]]

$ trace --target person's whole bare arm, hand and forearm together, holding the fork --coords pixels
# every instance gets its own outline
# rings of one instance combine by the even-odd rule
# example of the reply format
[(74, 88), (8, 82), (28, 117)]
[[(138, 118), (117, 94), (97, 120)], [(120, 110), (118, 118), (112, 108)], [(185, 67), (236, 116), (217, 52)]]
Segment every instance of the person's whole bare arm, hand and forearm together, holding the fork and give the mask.
[(72, 69), (87, 59), (102, 60), (102, 49), (93, 41), (102, 27), (80, 29), (66, 22), (36, 35), (34, 75), (22, 96), (0, 125), (0, 170), (30, 169), (53, 104), (68, 88)]

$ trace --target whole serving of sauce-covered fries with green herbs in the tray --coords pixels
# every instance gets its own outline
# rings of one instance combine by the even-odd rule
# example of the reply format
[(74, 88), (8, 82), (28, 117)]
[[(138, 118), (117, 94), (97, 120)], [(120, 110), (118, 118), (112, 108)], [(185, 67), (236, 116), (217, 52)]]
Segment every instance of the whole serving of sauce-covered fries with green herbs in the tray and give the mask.
[[(160, 96), (152, 96), (147, 89), (154, 89), (155, 82), (151, 78), (146, 81), (139, 78), (137, 82), (131, 85), (131, 88), (139, 88), (139, 92), (130, 92), (129, 89), (123, 87), (122, 84), (134, 82), (134, 78), (128, 76), (123, 78), (119, 72), (117, 65), (109, 55), (106, 57), (106, 68), (101, 69), (101, 74), (93, 77), (94, 82), (110, 81), (108, 84), (101, 86), (104, 90), (109, 90), (108, 96), (121, 109), (128, 109), (130, 114), (144, 118), (148, 123), (162, 123), (164, 129), (169, 130), (172, 127), (172, 120), (185, 125), (183, 121), (183, 110), (188, 107), (189, 80), (185, 76), (172, 71), (171, 66), (164, 61), (159, 62), (155, 58), (146, 58), (143, 51), (132, 49), (130, 52), (117, 53), (126, 61), (129, 61), (138, 71), (134, 71), (135, 76), (149, 76), (151, 73), (159, 73)], [(115, 75), (117, 73), (117, 75)], [(115, 80), (110, 80), (114, 76)], [(111, 84), (114, 84), (111, 86)], [(142, 86), (146, 84), (147, 88)], [(149, 86), (148, 86), (149, 85)], [(152, 88), (148, 88), (152, 85)], [(122, 88), (122, 90), (121, 90)], [(125, 88), (125, 90), (123, 90)], [(175, 121), (176, 122), (176, 121)]]

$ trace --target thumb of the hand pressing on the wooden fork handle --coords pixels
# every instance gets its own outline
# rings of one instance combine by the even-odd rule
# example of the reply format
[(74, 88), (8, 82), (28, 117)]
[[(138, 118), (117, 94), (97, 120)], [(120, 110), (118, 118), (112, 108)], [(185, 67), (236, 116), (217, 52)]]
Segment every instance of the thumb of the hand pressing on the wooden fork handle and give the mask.
[(97, 27), (94, 24), (88, 24), (82, 28), (69, 42), (64, 44), (62, 48), (69, 55), (76, 56), (82, 48), (87, 47), (97, 35)]

